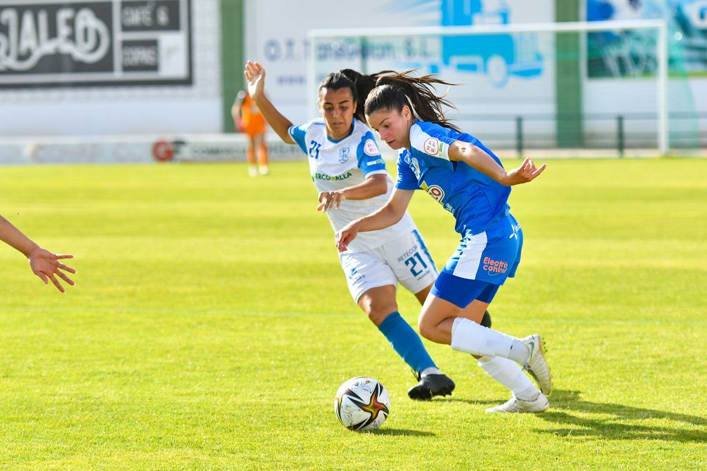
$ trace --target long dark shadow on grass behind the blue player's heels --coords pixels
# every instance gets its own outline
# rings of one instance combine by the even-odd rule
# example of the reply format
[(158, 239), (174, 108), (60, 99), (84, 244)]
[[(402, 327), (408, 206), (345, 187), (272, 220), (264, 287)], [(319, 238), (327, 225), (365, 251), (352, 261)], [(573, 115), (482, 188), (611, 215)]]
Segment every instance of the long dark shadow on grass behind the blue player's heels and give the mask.
[[(578, 417), (573, 412), (604, 417)], [(706, 417), (614, 403), (592, 403), (580, 398), (580, 391), (576, 390), (554, 390), (550, 396), (550, 409), (538, 417), (564, 426), (559, 429), (537, 430), (547, 434), (593, 436), (609, 440), (707, 442)], [(645, 423), (650, 419), (669, 420), (672, 424), (668, 428)]]

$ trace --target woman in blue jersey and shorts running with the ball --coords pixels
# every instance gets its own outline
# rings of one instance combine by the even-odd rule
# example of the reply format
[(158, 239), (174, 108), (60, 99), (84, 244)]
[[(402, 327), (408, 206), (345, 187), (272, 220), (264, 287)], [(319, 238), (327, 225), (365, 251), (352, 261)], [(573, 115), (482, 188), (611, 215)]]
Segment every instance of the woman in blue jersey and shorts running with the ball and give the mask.
[(396, 224), (414, 190), (429, 193), (454, 215), (462, 239), (422, 307), (421, 335), (473, 354), (489, 376), (511, 390), (508, 402), (486, 412), (547, 410), (551, 375), (542, 338), (515, 338), (479, 325), (498, 288), (515, 275), (520, 262), (523, 233), (509, 211), (510, 186), (531, 181), (546, 165), (537, 168), (526, 159), (506, 172), (489, 148), (445, 119), (443, 107), (452, 105), (434, 86), (449, 83), (409, 72), (365, 80), (368, 85), (361, 89), (370, 90), (366, 119), (387, 145), (399, 150), (398, 177), (385, 206), (337, 232), (338, 249), (345, 251), (368, 231)]

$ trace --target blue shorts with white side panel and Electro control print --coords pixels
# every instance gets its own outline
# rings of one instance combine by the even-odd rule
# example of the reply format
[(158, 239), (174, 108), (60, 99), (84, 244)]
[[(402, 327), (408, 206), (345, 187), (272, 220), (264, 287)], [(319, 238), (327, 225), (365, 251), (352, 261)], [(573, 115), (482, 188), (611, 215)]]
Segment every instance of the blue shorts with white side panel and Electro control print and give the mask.
[(522, 246), (522, 229), (510, 214), (485, 232), (467, 234), (437, 278), (432, 294), (462, 308), (474, 299), (491, 302), (506, 278), (515, 276)]

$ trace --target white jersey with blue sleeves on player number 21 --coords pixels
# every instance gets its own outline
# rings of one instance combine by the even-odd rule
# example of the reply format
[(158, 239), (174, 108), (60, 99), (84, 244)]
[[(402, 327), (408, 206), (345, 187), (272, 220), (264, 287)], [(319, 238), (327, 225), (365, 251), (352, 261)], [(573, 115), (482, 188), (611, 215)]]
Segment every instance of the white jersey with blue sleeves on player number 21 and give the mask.
[[(385, 169), (385, 162), (366, 124), (354, 118), (349, 136), (332, 141), (327, 136), (324, 119), (315, 119), (300, 126), (291, 126), (290, 136), (308, 155), (312, 181), (317, 191), (336, 191), (363, 183), (375, 174), (385, 174), (388, 188), (385, 194), (365, 200), (346, 200), (341, 208), (327, 211), (334, 232), (359, 217), (382, 208), (393, 191), (393, 181)], [(405, 212), (402, 220), (378, 231), (359, 232), (349, 244), (349, 252), (363, 252), (382, 246), (392, 239), (409, 234), (415, 224)]]

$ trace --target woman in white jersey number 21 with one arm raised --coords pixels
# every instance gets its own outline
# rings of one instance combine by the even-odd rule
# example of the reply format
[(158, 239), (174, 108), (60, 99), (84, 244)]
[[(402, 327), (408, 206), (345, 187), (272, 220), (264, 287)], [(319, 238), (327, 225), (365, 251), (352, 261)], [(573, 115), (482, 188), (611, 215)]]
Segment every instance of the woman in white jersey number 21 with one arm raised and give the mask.
[[(248, 61), (244, 72), (248, 92), (271, 128), (282, 141), (299, 145), (308, 155), (319, 191), (317, 209), (326, 212), (334, 231), (382, 207), (393, 186), (373, 133), (356, 118), (363, 117), (351, 80), (356, 74), (329, 74), (318, 92), (322, 117), (293, 126), (264, 95), (264, 68)], [(429, 400), (451, 394), (454, 381), (437, 368), (395, 301), (400, 283), (422, 304), (438, 275), (410, 215), (404, 213), (395, 225), (368, 232), (339, 259), (356, 304), (416, 373), (419, 383), (410, 388), (409, 397)]]

